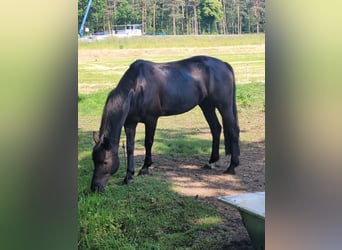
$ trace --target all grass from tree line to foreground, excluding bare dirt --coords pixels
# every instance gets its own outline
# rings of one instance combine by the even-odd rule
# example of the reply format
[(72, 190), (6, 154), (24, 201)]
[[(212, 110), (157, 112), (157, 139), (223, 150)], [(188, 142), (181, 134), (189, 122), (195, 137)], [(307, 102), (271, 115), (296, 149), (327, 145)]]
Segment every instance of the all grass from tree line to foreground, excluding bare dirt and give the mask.
[[(121, 46), (120, 46), (121, 44)], [(186, 46), (184, 46), (186, 44)], [(211, 232), (223, 223), (217, 209), (195, 197), (179, 195), (161, 175), (136, 177), (122, 185), (125, 159), (103, 194), (90, 193), (92, 131), (98, 130), (108, 91), (137, 58), (169, 61), (207, 54), (232, 64), (237, 84), (241, 135), (248, 144), (264, 140), (264, 35), (232, 37), (141, 37), (79, 44), (78, 101), (78, 248), (79, 249), (220, 249)], [(259, 122), (250, 124), (249, 120)], [(158, 122), (154, 155), (208, 158), (211, 138), (201, 111)], [(143, 153), (139, 125), (136, 154)], [(165, 140), (167, 138), (167, 140)], [(122, 141), (124, 137), (122, 136)], [(223, 149), (220, 149), (223, 153)], [(141, 162), (136, 162), (139, 169)], [(229, 233), (224, 240), (229, 240)]]

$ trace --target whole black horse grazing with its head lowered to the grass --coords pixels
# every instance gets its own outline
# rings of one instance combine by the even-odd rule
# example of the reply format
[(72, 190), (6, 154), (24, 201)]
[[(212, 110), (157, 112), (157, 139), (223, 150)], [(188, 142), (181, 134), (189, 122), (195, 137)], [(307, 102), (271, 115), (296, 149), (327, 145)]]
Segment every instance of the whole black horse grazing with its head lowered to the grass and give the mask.
[(177, 115), (199, 105), (213, 137), (209, 164), (219, 160), (222, 116), (226, 155), (231, 155), (224, 173), (235, 174), (239, 165), (239, 126), (232, 67), (223, 61), (195, 56), (185, 60), (153, 63), (137, 60), (113, 89), (104, 106), (100, 133), (94, 132), (95, 165), (92, 191), (103, 191), (109, 177), (119, 168), (119, 140), (124, 126), (127, 144), (126, 184), (133, 181), (134, 138), (138, 122), (145, 124), (145, 160), (139, 174), (148, 174), (152, 165), (151, 148), (160, 116)]

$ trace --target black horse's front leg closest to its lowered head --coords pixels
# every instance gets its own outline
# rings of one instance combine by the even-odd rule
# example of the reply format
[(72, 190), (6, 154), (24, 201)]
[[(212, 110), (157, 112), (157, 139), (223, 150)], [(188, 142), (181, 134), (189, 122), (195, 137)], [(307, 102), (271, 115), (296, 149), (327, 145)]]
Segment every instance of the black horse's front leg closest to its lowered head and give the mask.
[(127, 174), (124, 179), (125, 184), (133, 182), (134, 176), (134, 140), (137, 124), (125, 124), (126, 151), (127, 151)]

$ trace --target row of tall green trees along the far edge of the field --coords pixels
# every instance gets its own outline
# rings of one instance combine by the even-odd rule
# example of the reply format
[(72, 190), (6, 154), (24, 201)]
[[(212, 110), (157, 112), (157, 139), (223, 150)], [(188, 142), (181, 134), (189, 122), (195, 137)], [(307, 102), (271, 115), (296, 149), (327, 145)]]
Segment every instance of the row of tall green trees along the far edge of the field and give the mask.
[[(89, 0), (78, 0), (78, 28)], [(85, 27), (112, 33), (115, 25), (141, 24), (143, 33), (167, 35), (259, 33), (265, 0), (93, 0)]]

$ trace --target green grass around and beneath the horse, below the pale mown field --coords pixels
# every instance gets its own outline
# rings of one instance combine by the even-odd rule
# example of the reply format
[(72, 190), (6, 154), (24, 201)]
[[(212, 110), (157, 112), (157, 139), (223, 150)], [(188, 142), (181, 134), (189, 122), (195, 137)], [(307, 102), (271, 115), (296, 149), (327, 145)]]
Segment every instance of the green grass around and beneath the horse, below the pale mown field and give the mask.
[[(237, 93), (239, 114), (244, 116), (249, 112), (262, 112), (263, 83), (237, 85)], [(97, 120), (96, 125), (99, 126), (106, 96), (107, 92), (81, 95), (79, 116), (91, 114), (94, 116), (93, 119)], [(175, 126), (170, 126), (171, 120)], [(153, 154), (169, 159), (189, 157), (189, 155), (208, 158), (211, 148), (210, 138), (200, 138), (197, 135), (198, 131), (208, 130), (207, 124), (203, 121), (203, 115), (198, 108), (187, 115), (161, 118)], [(144, 130), (141, 126), (137, 131), (137, 149), (143, 149), (143, 138)], [(216, 249), (220, 247), (220, 243), (210, 235), (210, 232), (222, 223), (214, 207), (205, 205), (194, 197), (178, 195), (171, 184), (157, 174), (139, 176), (135, 178), (133, 185), (122, 185), (125, 176), (125, 159), (122, 150), (119, 151), (121, 167), (118, 173), (110, 178), (105, 193), (90, 193), (89, 185), (93, 171), (91, 129), (79, 130), (78, 141), (79, 249), (203, 249), (203, 247)], [(123, 135), (122, 141), (124, 141)], [(136, 157), (136, 165), (141, 166), (141, 164), (142, 158)]]

